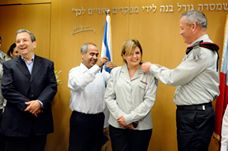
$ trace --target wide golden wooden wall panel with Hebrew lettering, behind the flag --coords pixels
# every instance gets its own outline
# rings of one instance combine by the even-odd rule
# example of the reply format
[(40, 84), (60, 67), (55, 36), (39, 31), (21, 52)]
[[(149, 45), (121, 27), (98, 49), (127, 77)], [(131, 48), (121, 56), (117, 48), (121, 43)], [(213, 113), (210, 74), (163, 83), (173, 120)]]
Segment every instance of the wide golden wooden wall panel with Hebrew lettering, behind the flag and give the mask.
[[(51, 58), (56, 61), (57, 68), (62, 70), (62, 84), (59, 86), (58, 102), (54, 106), (56, 117), (60, 126), (57, 126), (57, 132), (53, 134), (53, 144), (58, 143), (62, 150), (65, 150), (68, 144), (69, 133), (69, 89), (67, 88), (68, 71), (70, 68), (79, 65), (81, 62), (80, 46), (84, 42), (92, 41), (101, 47), (105, 15), (98, 13), (88, 14), (89, 8), (120, 8), (139, 6), (157, 6), (155, 13), (112, 13), (112, 46), (113, 59), (118, 65), (122, 64), (120, 49), (123, 42), (129, 38), (139, 39), (144, 49), (144, 60), (165, 65), (169, 68), (175, 67), (182, 59), (186, 45), (179, 35), (179, 17), (182, 11), (177, 11), (178, 5), (193, 4), (198, 8), (200, 3), (225, 3), (225, 0), (207, 2), (196, 1), (142, 1), (142, 0), (115, 0), (115, 1), (83, 1), (83, 0), (63, 0), (52, 1), (52, 51)], [(174, 12), (160, 12), (162, 5), (173, 5)], [(76, 16), (71, 10), (85, 9), (84, 15)], [(142, 11), (142, 10), (141, 10)], [(204, 11), (208, 16), (208, 32), (211, 38), (222, 47), (223, 29), (226, 12), (223, 11)], [(89, 26), (95, 29), (94, 32), (81, 32), (72, 35), (76, 27)], [(61, 44), (60, 44), (61, 43)], [(61, 57), (60, 57), (60, 54)], [(175, 104), (173, 95), (175, 88), (159, 83), (157, 102), (153, 107), (153, 135), (150, 141), (149, 150), (167, 151), (177, 150), (176, 142), (176, 123), (175, 123)], [(164, 95), (165, 94), (165, 95)], [(62, 130), (65, 128), (65, 131)], [(61, 133), (58, 133), (58, 132)], [(64, 136), (64, 141), (58, 137)], [(50, 140), (51, 142), (51, 140)], [(52, 148), (49, 150), (61, 150)], [(216, 143), (212, 143), (210, 150), (218, 149)]]

